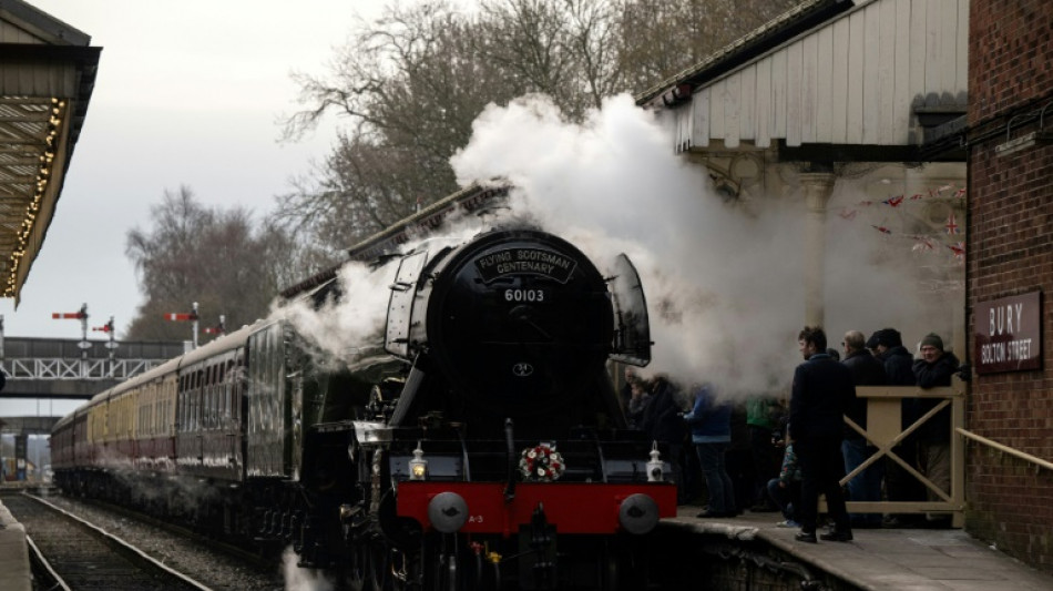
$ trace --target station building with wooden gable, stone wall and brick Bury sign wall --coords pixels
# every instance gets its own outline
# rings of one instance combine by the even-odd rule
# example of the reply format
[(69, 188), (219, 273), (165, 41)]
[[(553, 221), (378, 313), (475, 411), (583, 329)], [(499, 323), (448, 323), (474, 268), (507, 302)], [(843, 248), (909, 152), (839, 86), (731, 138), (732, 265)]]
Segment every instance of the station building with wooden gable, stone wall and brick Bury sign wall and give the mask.
[[(704, 198), (744, 215), (799, 206), (801, 325), (892, 326), (908, 348), (936, 332), (972, 366), (949, 396), (942, 507), (1046, 572), (1051, 24), (1043, 0), (806, 1), (637, 95), (705, 167)], [(835, 263), (856, 243), (857, 266)], [(901, 281), (878, 293), (839, 288), (890, 268)]]

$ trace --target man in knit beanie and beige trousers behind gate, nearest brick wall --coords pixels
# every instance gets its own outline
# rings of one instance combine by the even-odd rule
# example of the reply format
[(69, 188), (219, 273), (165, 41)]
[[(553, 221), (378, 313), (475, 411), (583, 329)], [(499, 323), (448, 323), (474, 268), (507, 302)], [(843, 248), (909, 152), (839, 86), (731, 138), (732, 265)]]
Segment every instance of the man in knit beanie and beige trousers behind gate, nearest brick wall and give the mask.
[[(937, 388), (951, 385), (951, 376), (959, 371), (960, 361), (951, 351), (943, 350), (943, 339), (936, 333), (929, 333), (921, 339), (921, 359), (914, 361), (914, 377), (921, 388)], [(942, 400), (937, 398), (917, 398), (914, 416), (921, 417), (936, 408)], [(932, 416), (918, 428), (918, 466), (921, 473), (944, 492), (951, 490), (951, 407)], [(940, 497), (929, 490), (929, 500)], [(944, 516), (929, 517), (929, 521), (947, 521)], [(931, 524), (931, 523), (930, 523)]]

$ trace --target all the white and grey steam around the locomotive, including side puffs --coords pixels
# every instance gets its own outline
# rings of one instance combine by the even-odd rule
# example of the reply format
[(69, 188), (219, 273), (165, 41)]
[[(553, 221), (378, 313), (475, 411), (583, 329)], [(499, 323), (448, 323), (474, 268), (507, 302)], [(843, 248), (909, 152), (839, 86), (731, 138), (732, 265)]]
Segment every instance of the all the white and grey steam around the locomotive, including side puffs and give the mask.
[[(542, 95), (490, 105), (467, 146), (451, 160), (462, 185), (507, 180), (511, 214), (529, 216), (589, 255), (603, 271), (625, 253), (641, 274), (651, 314), (647, 373), (681, 384), (709, 381), (726, 396), (785, 395), (800, 363), (804, 324), (804, 203), (767, 196), (760, 206), (729, 206), (705, 167), (674, 154), (672, 139), (627, 95), (606, 100), (583, 124), (563, 120)], [(503, 182), (503, 181), (501, 181)], [(839, 180), (830, 203), (858, 201)], [(943, 330), (942, 305), (919, 302), (917, 264), (881, 261), (878, 233), (846, 232), (828, 216), (826, 318), (829, 345), (848, 329), (899, 326)], [(466, 216), (444, 235), (483, 230)], [(835, 233), (838, 233), (835, 235)], [(340, 274), (343, 304), (321, 313), (294, 308), (297, 327), (337, 357), (377, 347), (393, 271), (350, 264)], [(943, 306), (945, 308), (945, 305)], [(937, 315), (938, 316), (938, 315)], [(904, 329), (906, 328), (906, 329)]]

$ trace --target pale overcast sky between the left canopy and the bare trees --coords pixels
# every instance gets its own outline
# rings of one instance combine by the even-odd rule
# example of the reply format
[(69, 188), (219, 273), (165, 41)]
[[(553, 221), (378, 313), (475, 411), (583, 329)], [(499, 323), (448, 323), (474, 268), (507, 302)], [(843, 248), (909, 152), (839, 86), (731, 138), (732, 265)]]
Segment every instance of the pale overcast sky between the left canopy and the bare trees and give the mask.
[(0, 299), (7, 336), (59, 338), (80, 338), (81, 326), (53, 320), (51, 313), (85, 303), (91, 326), (113, 316), (120, 334), (132, 320), (142, 295), (125, 237), (133, 227), (150, 227), (150, 208), (166, 190), (187, 185), (207, 205), (243, 205), (259, 216), (290, 177), (324, 159), (335, 123), (295, 144), (277, 142), (277, 118), (297, 109), (289, 73), (323, 73), (355, 16), (372, 19), (382, 4), (28, 1), (103, 48), (80, 141), (21, 304), (16, 310), (13, 299)]

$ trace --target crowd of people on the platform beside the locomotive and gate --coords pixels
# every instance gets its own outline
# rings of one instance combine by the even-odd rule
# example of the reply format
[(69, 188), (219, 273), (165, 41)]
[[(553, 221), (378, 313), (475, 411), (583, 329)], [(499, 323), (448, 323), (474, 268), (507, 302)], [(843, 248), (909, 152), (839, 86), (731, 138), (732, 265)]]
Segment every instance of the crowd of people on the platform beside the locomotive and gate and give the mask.
[[(679, 502), (702, 505), (699, 518), (779, 511), (778, 524), (799, 528), (796, 539), (809, 543), (849, 541), (853, 528), (948, 527), (948, 514), (850, 514), (846, 507), (848, 500), (939, 500), (903, 465), (949, 492), (950, 407), (934, 411), (939, 398), (902, 399), (901, 430), (924, 420), (892, 448), (901, 463), (871, 459), (877, 448), (867, 438), (867, 399), (856, 396), (857, 386), (950, 386), (963, 367), (940, 336), (927, 335), (917, 359), (893, 328), (869, 338), (849, 330), (838, 350), (827, 346), (822, 328), (805, 327), (798, 346), (802, 363), (788, 397), (733, 400), (710, 384), (683, 388), (662, 375), (645, 379), (625, 370), (630, 426), (668, 446), (681, 468)], [(853, 471), (842, 488), (840, 480)], [(817, 534), (820, 495), (830, 528)]]

